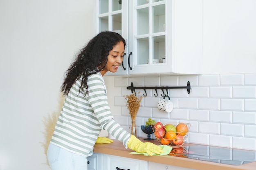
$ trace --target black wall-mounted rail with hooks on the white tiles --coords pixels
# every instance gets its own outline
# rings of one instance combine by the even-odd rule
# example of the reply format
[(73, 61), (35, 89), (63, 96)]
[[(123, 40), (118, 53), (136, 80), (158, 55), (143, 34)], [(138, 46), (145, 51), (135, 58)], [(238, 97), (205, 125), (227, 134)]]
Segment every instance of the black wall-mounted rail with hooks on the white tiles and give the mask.
[[(147, 96), (147, 92), (146, 89), (155, 89), (156, 95), (154, 94), (155, 97), (158, 96), (157, 94), (157, 89), (162, 89), (163, 95), (161, 94), (162, 97), (164, 96), (168, 96), (168, 90), (167, 89), (186, 89), (186, 91), (188, 92), (188, 94), (190, 93), (190, 83), (188, 81), (188, 83), (186, 84), (186, 86), (179, 86), (179, 87), (168, 87), (168, 86), (162, 86), (162, 87), (134, 87), (133, 83), (131, 83), (130, 86), (128, 86), (126, 89), (131, 90), (131, 92), (135, 93), (136, 96), (136, 92), (135, 89), (144, 89), (145, 94), (143, 94), (143, 96)], [(164, 89), (166, 90), (166, 93), (164, 93)]]

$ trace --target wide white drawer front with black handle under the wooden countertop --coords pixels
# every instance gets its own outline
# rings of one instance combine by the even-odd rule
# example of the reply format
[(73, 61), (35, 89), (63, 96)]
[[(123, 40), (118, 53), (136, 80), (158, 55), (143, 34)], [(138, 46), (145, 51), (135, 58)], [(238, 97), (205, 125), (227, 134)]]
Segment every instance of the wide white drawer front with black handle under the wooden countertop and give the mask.
[(103, 154), (102, 170), (148, 170), (148, 161)]

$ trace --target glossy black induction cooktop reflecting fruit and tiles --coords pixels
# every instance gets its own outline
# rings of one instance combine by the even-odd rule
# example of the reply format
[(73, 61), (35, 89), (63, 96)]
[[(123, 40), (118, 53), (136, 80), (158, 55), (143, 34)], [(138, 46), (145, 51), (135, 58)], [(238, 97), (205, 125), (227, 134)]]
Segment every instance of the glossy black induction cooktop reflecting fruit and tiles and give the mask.
[(230, 165), (242, 165), (256, 161), (256, 151), (206, 145), (192, 145), (173, 148), (170, 155), (172, 154), (173, 156), (182, 156), (189, 159)]

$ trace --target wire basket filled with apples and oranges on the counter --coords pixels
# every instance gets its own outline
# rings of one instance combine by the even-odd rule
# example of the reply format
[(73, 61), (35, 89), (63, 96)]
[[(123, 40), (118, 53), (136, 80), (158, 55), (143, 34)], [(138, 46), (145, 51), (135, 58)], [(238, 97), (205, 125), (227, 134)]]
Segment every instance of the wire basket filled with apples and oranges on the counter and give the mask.
[(157, 122), (151, 126), (159, 144), (180, 146), (186, 142), (191, 124)]

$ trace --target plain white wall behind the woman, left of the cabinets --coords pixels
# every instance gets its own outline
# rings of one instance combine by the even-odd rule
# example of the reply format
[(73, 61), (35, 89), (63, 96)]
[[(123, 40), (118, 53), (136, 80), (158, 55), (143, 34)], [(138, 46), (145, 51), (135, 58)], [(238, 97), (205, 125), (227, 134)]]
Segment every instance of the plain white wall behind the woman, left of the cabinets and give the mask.
[(43, 117), (93, 36), (92, 0), (0, 1), (0, 170), (48, 170)]

